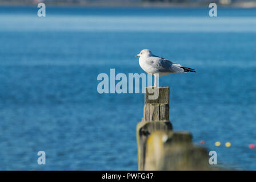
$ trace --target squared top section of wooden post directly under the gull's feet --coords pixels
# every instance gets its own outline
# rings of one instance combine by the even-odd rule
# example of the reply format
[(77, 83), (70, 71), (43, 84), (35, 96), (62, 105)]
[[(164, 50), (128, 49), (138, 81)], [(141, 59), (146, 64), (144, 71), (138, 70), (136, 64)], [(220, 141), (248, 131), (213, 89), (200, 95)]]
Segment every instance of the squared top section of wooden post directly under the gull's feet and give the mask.
[[(156, 99), (150, 99), (149, 96), (153, 96), (158, 92), (158, 97)], [(146, 87), (145, 88), (145, 104), (169, 104), (169, 86), (161, 87)]]

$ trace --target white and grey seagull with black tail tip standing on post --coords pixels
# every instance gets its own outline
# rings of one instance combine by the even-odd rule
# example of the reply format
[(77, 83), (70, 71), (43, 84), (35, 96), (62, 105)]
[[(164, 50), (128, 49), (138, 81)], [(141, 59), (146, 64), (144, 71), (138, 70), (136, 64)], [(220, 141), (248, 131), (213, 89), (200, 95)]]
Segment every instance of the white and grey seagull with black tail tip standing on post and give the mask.
[[(140, 57), (139, 57), (140, 56)], [(151, 75), (154, 75), (154, 87), (157, 87), (157, 77), (165, 76), (171, 73), (194, 72), (192, 68), (183, 67), (180, 64), (173, 63), (163, 57), (155, 56), (149, 49), (143, 49), (136, 57), (139, 57), (141, 68)]]

